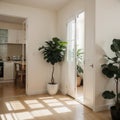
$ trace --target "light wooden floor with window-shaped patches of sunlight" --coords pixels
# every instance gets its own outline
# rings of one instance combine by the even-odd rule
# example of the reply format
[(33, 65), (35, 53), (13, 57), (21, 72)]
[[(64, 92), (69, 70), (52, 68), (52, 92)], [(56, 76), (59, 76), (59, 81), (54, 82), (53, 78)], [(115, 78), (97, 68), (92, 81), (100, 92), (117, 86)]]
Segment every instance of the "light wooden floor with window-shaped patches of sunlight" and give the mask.
[[(7, 89), (7, 88), (6, 88)], [(7, 94), (7, 93), (6, 93)], [(8, 96), (4, 94), (4, 96)], [(74, 99), (55, 95), (1, 97), (0, 120), (111, 120), (109, 111), (93, 112)]]

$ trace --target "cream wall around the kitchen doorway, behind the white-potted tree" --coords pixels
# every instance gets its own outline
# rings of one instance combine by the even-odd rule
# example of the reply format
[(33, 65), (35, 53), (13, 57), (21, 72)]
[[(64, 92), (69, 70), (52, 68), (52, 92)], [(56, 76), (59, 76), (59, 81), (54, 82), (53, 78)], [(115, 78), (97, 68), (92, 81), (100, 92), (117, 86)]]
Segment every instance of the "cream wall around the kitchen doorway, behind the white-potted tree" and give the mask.
[[(0, 2), (0, 14), (27, 18), (27, 94), (46, 92), (52, 67), (43, 60), (38, 48), (44, 41), (56, 36), (56, 13)], [(59, 81), (59, 66), (56, 67), (55, 74), (55, 80)]]

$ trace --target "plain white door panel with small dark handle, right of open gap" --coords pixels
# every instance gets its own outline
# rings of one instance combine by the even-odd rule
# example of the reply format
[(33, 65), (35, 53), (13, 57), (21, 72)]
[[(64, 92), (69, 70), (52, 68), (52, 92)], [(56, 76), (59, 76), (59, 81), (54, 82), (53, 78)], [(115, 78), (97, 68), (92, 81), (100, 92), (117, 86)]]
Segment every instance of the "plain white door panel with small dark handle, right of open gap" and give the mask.
[[(89, 1), (90, 2), (90, 1)], [(92, 5), (87, 3), (88, 5)], [(85, 65), (84, 104), (94, 110), (95, 106), (95, 17), (94, 7), (85, 12)], [(91, 79), (92, 78), (92, 79)], [(90, 94), (89, 94), (90, 93)]]

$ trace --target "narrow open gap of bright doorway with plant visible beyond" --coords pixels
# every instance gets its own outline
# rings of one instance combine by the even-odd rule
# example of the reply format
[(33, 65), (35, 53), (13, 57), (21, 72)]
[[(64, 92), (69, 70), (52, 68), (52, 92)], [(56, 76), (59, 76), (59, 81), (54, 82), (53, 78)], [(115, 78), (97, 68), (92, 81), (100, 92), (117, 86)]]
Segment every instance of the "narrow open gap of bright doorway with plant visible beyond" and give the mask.
[(76, 18), (76, 71), (77, 71), (77, 96), (76, 99), (84, 103), (84, 28), (85, 14)]

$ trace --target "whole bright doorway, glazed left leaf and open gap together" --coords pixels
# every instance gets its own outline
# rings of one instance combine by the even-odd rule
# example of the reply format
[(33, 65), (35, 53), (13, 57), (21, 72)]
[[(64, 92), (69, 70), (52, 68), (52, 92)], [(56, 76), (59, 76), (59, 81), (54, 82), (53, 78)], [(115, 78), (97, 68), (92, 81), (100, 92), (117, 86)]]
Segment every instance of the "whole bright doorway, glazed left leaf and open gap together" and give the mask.
[(84, 29), (85, 13), (80, 13), (67, 24), (68, 95), (84, 101)]

